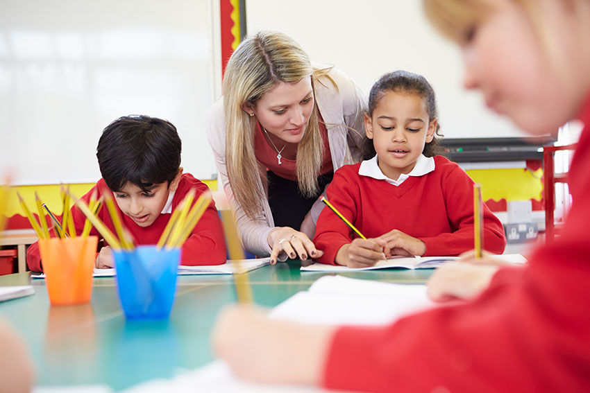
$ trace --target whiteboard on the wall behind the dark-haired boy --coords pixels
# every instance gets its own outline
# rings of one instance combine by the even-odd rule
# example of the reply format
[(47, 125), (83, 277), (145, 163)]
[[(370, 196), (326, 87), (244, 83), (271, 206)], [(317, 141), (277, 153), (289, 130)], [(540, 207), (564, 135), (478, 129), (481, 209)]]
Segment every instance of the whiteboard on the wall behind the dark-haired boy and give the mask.
[(0, 1), (0, 171), (16, 184), (96, 182), (103, 128), (146, 114), (176, 125), (185, 172), (214, 178), (214, 3)]

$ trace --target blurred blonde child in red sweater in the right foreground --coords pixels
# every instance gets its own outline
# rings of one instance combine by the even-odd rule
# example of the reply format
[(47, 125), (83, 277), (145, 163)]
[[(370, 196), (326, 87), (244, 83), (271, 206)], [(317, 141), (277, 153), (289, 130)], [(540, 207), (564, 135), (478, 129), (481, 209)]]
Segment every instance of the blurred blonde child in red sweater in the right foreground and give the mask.
[[(452, 277), (430, 281), (437, 297), (466, 297), (462, 304), (364, 328), (267, 320), (260, 311), (233, 308), (219, 319), (214, 347), (237, 375), (257, 381), (362, 392), (586, 392), (590, 1), (425, 4), (430, 19), (462, 47), (465, 86), (482, 90), (491, 109), (533, 135), (574, 118), (585, 123), (561, 236), (539, 247), (528, 265), (498, 268), (489, 258), (487, 265), (464, 263), (469, 274), (453, 285), (447, 285)], [(490, 266), (494, 273), (480, 281)]]

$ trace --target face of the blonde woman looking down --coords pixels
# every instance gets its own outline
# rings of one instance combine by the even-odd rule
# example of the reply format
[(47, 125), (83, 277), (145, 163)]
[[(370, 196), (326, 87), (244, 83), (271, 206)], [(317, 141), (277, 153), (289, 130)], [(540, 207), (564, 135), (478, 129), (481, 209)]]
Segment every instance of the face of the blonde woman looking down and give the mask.
[(311, 77), (296, 83), (278, 82), (251, 108), (260, 125), (287, 143), (299, 143), (314, 107)]

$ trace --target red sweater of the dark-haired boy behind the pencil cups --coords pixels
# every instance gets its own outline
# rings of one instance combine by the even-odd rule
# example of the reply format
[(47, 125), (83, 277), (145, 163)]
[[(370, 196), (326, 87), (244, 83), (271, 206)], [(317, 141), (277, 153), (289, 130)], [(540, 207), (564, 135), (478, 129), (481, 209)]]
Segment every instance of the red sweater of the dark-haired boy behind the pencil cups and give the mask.
[[(108, 186), (104, 180), (99, 180), (99, 182), (96, 183), (96, 186), (92, 187), (81, 200), (84, 200), (87, 203), (95, 189), (98, 193), (97, 198), (100, 198), (102, 190), (108, 190)], [(172, 211), (176, 209), (178, 203), (185, 198), (185, 195), (190, 189), (196, 189), (196, 198), (199, 198), (199, 195), (208, 191), (206, 184), (196, 180), (192, 175), (185, 173), (180, 178), (178, 189), (176, 189), (176, 193), (174, 193)], [(160, 236), (162, 235), (162, 232), (164, 232), (164, 228), (170, 218), (169, 213), (160, 214), (149, 227), (140, 227), (131, 218), (121, 213), (117, 204), (115, 204), (115, 207), (117, 207), (119, 216), (122, 217), (123, 224), (133, 236), (136, 245), (154, 245), (158, 243), (158, 240), (160, 240)], [(86, 218), (76, 207), (71, 208), (71, 214), (74, 217), (76, 231), (80, 234)], [(115, 227), (112, 225), (106, 207), (103, 207), (101, 211), (99, 211), (98, 216), (108, 229), (115, 233)], [(90, 234), (102, 238), (94, 227), (92, 228), (92, 231), (90, 231)], [(219, 216), (217, 215), (217, 209), (215, 208), (214, 202), (211, 202), (205, 213), (203, 213), (201, 220), (199, 220), (194, 227), (192, 234), (185, 241), (180, 255), (182, 265), (220, 265), (221, 263), (225, 263), (226, 241), (224, 230), (221, 226), (221, 220), (219, 220)], [(26, 251), (26, 263), (28, 264), (28, 268), (34, 272), (43, 271), (39, 245), (37, 243), (33, 243), (31, 247), (28, 247), (28, 250)]]

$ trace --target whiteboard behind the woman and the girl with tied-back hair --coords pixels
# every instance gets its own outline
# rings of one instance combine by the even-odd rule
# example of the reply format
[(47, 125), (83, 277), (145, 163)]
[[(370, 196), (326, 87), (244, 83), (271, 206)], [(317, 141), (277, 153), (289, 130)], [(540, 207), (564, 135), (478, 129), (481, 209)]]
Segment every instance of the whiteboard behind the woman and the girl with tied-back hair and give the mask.
[(248, 34), (277, 30), (294, 38), (312, 62), (335, 65), (367, 96), (383, 74), (405, 69), (425, 76), (437, 94), (446, 138), (524, 137), (509, 120), (487, 110), (477, 91), (462, 88), (459, 49), (426, 19), (419, 0), (246, 1)]

